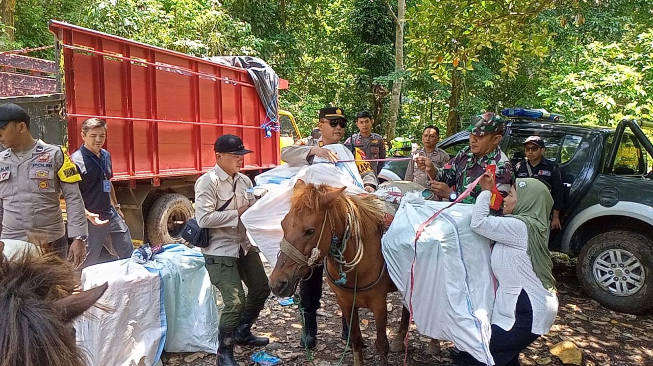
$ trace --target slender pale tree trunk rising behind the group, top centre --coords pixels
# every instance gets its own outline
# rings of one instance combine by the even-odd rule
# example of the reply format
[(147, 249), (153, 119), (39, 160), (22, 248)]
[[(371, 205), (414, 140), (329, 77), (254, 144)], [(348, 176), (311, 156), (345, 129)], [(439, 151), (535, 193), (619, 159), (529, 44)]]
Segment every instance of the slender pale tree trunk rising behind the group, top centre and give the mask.
[[(397, 1), (397, 16), (396, 16), (396, 33), (394, 38), (394, 72), (397, 76), (404, 72), (404, 22), (406, 16), (406, 0)], [(402, 94), (401, 78), (396, 79), (392, 83), (392, 96), (390, 98), (390, 116), (385, 128), (385, 134), (388, 141), (394, 139), (394, 134), (397, 128), (397, 119), (399, 118), (399, 105), (401, 104)]]

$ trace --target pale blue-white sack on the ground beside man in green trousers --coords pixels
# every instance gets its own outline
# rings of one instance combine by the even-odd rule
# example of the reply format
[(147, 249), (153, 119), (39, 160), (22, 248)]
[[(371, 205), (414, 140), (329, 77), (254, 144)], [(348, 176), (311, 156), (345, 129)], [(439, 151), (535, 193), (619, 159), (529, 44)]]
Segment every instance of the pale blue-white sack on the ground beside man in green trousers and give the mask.
[(204, 256), (183, 244), (169, 244), (144, 266), (163, 281), (167, 320), (165, 352), (217, 351), (218, 320), (214, 290)]

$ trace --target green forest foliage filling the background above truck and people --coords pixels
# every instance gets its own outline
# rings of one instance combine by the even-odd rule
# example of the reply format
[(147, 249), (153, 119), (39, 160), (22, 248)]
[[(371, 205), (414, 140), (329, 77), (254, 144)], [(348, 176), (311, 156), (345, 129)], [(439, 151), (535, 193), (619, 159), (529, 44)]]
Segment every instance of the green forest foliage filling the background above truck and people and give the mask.
[[(389, 6), (396, 1), (18, 0), (16, 38), (0, 23), (0, 47), (52, 44), (56, 19), (200, 57), (255, 55), (290, 81), (280, 105), (305, 135), (326, 105), (350, 120), (360, 109), (386, 112), (383, 95), (400, 77), (397, 135), (418, 141), (427, 124), (445, 130), (451, 109), (464, 121), (545, 107), (604, 125), (653, 114), (653, 0), (409, 0), (402, 74)], [(461, 92), (451, 106), (454, 72)]]

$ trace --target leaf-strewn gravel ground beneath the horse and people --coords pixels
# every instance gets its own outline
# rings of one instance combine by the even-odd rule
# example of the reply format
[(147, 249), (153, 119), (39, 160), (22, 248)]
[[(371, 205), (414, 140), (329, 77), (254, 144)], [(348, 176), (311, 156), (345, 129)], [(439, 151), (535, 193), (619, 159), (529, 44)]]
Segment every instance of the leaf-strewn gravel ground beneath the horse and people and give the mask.
[[(268, 272), (270, 268), (267, 268)], [(552, 356), (549, 348), (561, 341), (572, 341), (583, 356), (585, 366), (638, 366), (653, 365), (653, 313), (628, 315), (615, 313), (586, 298), (575, 276), (575, 263), (564, 255), (554, 257), (554, 275), (558, 280), (560, 310), (558, 320), (549, 335), (543, 336), (520, 357), (522, 365), (563, 365)], [(323, 305), (318, 317), (318, 345), (313, 352), (313, 362), (318, 366), (338, 365), (345, 345), (340, 340), (340, 307), (325, 283)], [(220, 304), (218, 304), (220, 305)], [(401, 317), (401, 302), (397, 294), (388, 298), (390, 339), (396, 334)], [(360, 310), (361, 328), (366, 345), (366, 365), (378, 365), (379, 358), (374, 347), (375, 326), (372, 313)], [(272, 344), (266, 352), (281, 358), (279, 365), (310, 365), (306, 352), (298, 342), (301, 330), (296, 305), (282, 307), (270, 298), (253, 328), (257, 335), (270, 337)], [(413, 326), (406, 365), (439, 365), (451, 361), (449, 351), (453, 344), (443, 341), (439, 356), (424, 353), (430, 339), (415, 333)], [(239, 365), (253, 365), (249, 360), (255, 350), (236, 346)], [(404, 353), (390, 354), (390, 365), (402, 365)], [(215, 356), (198, 352), (195, 354), (164, 354), (163, 364), (169, 366), (215, 365)], [(351, 352), (347, 352), (342, 365), (352, 365)]]

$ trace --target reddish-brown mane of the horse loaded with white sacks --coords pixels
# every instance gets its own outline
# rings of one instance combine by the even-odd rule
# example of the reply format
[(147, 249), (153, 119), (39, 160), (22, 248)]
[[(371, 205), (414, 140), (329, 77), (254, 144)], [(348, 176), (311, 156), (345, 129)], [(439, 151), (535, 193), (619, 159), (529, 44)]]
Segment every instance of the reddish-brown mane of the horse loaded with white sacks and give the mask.
[[(297, 214), (302, 212), (315, 212), (320, 207), (320, 196), (336, 188), (326, 184), (306, 184), (304, 187), (296, 187), (291, 199), (291, 207)], [(347, 195), (338, 196), (336, 201), (328, 208), (332, 217), (340, 222), (345, 221), (347, 214), (347, 201), (351, 201), (356, 209), (355, 216), (360, 222), (360, 231), (364, 238), (369, 238), (379, 233), (383, 228), (383, 206), (381, 199), (375, 195)]]

